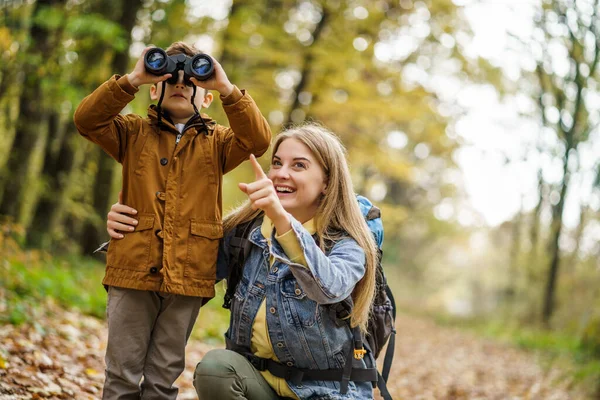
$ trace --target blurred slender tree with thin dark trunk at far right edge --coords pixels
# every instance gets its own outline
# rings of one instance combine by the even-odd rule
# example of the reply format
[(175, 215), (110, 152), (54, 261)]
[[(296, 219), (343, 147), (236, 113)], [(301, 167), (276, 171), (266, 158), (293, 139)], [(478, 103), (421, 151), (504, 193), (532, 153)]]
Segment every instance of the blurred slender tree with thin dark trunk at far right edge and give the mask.
[[(534, 96), (543, 125), (550, 128), (560, 143), (558, 152), (562, 164), (562, 179), (553, 191), (551, 260), (542, 310), (542, 319), (549, 324), (555, 309), (564, 206), (573, 173), (571, 160), (577, 157), (578, 146), (588, 140), (600, 121), (599, 111), (591, 107), (589, 98), (598, 87), (598, 1), (585, 4), (570, 0), (544, 2), (535, 22), (534, 37), (525, 44), (536, 63), (538, 87)], [(561, 60), (556, 58), (557, 54), (561, 54)]]

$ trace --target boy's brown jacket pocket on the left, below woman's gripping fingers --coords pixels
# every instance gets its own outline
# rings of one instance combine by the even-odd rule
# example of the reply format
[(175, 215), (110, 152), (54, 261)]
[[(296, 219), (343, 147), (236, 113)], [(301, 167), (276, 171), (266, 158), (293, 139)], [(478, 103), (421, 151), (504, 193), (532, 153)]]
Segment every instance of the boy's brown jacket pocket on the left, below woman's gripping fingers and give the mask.
[(151, 261), (153, 227), (154, 214), (139, 214), (135, 231), (124, 233), (123, 239), (110, 241), (107, 264), (115, 268), (146, 271)]

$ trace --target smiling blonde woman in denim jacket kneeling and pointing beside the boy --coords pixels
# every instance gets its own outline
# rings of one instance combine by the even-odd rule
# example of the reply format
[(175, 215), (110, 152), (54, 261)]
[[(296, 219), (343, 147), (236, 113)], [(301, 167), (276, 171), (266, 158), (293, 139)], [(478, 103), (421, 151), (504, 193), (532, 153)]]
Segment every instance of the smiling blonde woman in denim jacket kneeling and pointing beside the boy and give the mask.
[[(232, 298), (227, 349), (208, 352), (196, 367), (198, 397), (373, 398), (371, 382), (348, 382), (350, 368), (344, 369), (373, 365), (370, 354), (357, 360), (348, 355), (351, 327), (366, 332), (377, 256), (342, 144), (324, 127), (307, 124), (277, 136), (267, 175), (254, 156), (250, 162), (256, 180), (239, 184), (248, 202), (224, 221), (222, 276), (235, 228), (256, 218), (260, 226), (248, 235), (253, 246)], [(127, 231), (123, 223), (131, 219), (120, 214), (127, 209), (113, 206), (112, 237)], [(330, 305), (349, 296), (354, 306), (344, 323)], [(345, 382), (329, 370), (342, 373)]]

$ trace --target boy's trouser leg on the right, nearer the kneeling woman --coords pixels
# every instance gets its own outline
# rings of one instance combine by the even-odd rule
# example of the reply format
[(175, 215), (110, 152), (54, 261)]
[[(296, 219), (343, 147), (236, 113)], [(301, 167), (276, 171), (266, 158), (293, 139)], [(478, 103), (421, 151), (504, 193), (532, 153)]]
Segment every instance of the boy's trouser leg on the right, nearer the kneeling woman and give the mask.
[(160, 311), (144, 363), (143, 400), (175, 400), (173, 384), (185, 368), (185, 345), (204, 300), (202, 297), (158, 293)]

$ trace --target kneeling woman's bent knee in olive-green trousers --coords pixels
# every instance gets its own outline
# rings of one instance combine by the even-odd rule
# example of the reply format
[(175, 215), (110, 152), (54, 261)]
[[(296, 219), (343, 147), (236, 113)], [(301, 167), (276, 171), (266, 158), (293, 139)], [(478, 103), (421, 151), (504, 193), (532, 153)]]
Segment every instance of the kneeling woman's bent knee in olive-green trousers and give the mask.
[(200, 400), (277, 400), (279, 396), (246, 357), (211, 350), (196, 366), (194, 387)]

